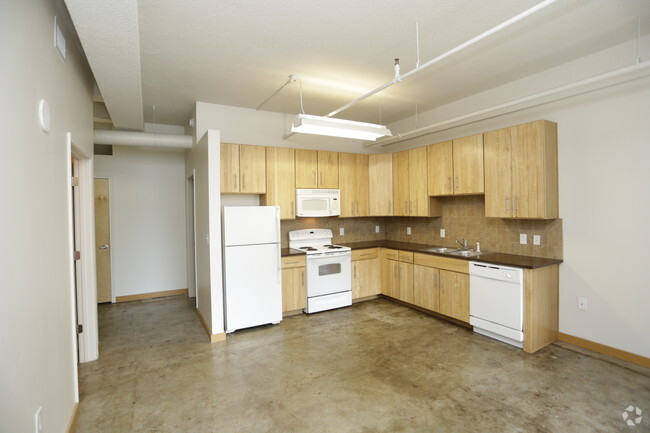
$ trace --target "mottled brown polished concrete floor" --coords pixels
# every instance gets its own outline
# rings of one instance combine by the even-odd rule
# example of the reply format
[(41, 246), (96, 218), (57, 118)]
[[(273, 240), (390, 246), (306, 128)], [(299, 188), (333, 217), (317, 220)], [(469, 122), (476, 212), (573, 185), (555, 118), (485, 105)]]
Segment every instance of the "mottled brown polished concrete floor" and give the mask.
[(99, 311), (77, 433), (650, 431), (648, 369), (569, 345), (531, 356), (386, 300), (212, 345), (185, 297)]

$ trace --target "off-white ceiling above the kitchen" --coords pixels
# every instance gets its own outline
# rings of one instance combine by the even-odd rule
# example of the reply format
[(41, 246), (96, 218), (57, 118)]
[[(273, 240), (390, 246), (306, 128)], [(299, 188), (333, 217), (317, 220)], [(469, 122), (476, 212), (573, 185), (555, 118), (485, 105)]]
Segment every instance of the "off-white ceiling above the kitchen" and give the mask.
[[(176, 125), (197, 100), (256, 108), (289, 74), (302, 77), (305, 111), (324, 115), (391, 80), (394, 58), (402, 73), (415, 67), (416, 22), (424, 63), (539, 0), (108, 3), (66, 0), (114, 123), (132, 128), (124, 119), (143, 107), (151, 122), (154, 105), (158, 123)], [(648, 34), (650, 0), (560, 0), (337, 117), (403, 119), (633, 40), (639, 17)], [(297, 83), (263, 107), (299, 109)]]

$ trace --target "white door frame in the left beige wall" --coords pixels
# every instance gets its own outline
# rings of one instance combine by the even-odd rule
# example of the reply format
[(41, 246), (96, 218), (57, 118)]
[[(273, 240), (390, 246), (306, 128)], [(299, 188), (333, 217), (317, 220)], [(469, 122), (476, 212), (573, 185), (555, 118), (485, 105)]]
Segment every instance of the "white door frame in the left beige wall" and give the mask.
[[(77, 213), (77, 245), (81, 253), (80, 260), (72, 260), (75, 249), (73, 215), (72, 158), (78, 161), (77, 177), (79, 187), (78, 201), (75, 203)], [(72, 134), (66, 134), (66, 178), (65, 186), (68, 198), (68, 229), (70, 253), (70, 297), (72, 323), (71, 333), (74, 340), (74, 360), (77, 362), (94, 361), (99, 357), (99, 330), (97, 324), (97, 274), (95, 269), (95, 206), (93, 192), (93, 159), (86, 155), (72, 142)], [(76, 284), (75, 284), (76, 277)], [(76, 295), (76, 296), (75, 296)], [(83, 332), (77, 335), (77, 321), (83, 325)], [(76, 376), (75, 368), (75, 376)], [(75, 382), (76, 382), (75, 377)], [(75, 391), (78, 393), (78, 390)]]

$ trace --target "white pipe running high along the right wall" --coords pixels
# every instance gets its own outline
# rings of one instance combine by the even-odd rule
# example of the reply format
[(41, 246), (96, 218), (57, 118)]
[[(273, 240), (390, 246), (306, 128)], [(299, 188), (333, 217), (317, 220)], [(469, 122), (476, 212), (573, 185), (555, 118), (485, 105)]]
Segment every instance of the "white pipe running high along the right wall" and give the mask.
[(446, 129), (468, 125), (473, 122), (479, 122), (481, 120), (502, 116), (504, 114), (509, 114), (527, 108), (533, 108), (542, 104), (548, 104), (550, 102), (559, 101), (561, 99), (566, 99), (572, 96), (578, 96), (583, 93), (604, 89), (616, 84), (643, 78), (648, 75), (650, 75), (650, 60), (635, 63), (630, 66), (625, 66), (614, 71), (605, 72), (604, 74), (585, 78), (583, 80), (555, 87), (550, 90), (538, 92), (533, 95), (524, 96), (512, 101), (504, 102), (503, 104), (483, 108), (472, 113), (457, 116), (452, 119), (434, 123), (432, 125), (423, 126), (422, 128), (412, 129), (407, 132), (398, 132), (395, 134), (395, 137), (367, 143), (364, 144), (364, 147), (390, 146), (392, 144), (400, 143), (406, 140), (413, 140), (425, 135), (444, 131)]

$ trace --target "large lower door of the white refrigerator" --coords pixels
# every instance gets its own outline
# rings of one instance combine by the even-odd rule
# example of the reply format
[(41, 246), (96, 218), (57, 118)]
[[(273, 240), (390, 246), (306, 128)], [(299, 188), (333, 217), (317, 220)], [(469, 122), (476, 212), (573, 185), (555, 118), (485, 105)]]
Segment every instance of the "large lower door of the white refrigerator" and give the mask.
[(282, 320), (278, 244), (225, 248), (226, 332)]

